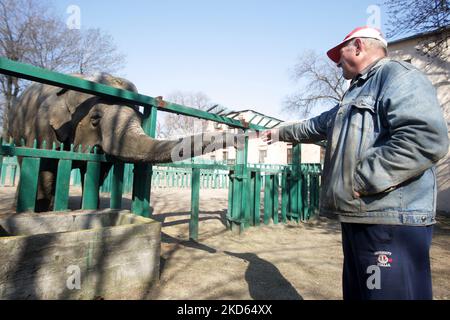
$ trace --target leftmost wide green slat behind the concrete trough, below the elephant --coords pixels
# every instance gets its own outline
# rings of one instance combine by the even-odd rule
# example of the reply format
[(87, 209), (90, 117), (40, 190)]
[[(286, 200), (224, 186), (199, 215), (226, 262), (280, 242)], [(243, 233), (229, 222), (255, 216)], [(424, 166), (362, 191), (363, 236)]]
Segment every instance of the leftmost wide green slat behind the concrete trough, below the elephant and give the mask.
[(17, 212), (34, 211), (39, 178), (39, 158), (23, 158), (20, 170)]

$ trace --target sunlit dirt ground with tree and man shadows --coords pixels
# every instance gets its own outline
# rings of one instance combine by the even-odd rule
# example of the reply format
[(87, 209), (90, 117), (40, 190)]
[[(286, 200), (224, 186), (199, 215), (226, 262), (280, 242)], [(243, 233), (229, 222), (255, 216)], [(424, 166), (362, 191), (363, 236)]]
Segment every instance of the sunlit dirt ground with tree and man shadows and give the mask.
[[(79, 205), (79, 190), (71, 192)], [(14, 188), (0, 188), (0, 213)], [(102, 197), (102, 207), (109, 198)], [(340, 225), (316, 218), (226, 228), (227, 190), (201, 190), (198, 242), (189, 241), (189, 189), (155, 189), (151, 206), (162, 223), (160, 282), (149, 299), (342, 299)], [(130, 208), (129, 198), (124, 207)], [(431, 249), (435, 299), (450, 299), (450, 218), (438, 216)]]

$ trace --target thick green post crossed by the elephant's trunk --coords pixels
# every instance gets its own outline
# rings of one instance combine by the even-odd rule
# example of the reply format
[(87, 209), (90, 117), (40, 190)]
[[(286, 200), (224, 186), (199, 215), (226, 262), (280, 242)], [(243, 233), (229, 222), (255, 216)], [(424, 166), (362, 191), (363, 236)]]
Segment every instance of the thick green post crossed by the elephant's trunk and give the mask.
[[(144, 108), (142, 128), (150, 137), (156, 136), (157, 108)], [(135, 164), (133, 174), (132, 211), (139, 216), (150, 216), (152, 166), (146, 163)]]

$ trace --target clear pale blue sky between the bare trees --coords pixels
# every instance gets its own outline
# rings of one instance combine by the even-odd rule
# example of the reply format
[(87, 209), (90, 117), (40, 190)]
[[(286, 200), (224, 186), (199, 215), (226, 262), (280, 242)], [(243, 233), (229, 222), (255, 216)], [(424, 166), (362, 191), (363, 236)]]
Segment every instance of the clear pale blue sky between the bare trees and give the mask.
[[(126, 54), (120, 75), (150, 96), (201, 91), (232, 110), (254, 109), (284, 120), (290, 77), (305, 50), (320, 54), (367, 24), (376, 1), (165, 0), (54, 1), (77, 5), (81, 28), (100, 28)], [(381, 23), (384, 24), (383, 12)], [(384, 30), (382, 26), (382, 30)]]

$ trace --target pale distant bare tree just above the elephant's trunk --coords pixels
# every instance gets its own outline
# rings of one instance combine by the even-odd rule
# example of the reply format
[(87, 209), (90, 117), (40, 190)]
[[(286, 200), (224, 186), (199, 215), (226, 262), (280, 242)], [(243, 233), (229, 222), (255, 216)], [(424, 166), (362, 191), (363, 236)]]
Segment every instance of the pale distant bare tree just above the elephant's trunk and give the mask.
[[(164, 97), (164, 100), (200, 110), (209, 110), (217, 106), (202, 92), (174, 91), (167, 97)], [(205, 130), (207, 123), (208, 121), (206, 120), (167, 113), (164, 115), (163, 124), (161, 122), (158, 123), (158, 136), (167, 138), (199, 133)]]

